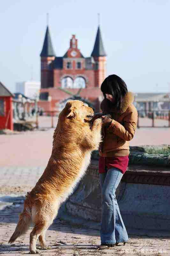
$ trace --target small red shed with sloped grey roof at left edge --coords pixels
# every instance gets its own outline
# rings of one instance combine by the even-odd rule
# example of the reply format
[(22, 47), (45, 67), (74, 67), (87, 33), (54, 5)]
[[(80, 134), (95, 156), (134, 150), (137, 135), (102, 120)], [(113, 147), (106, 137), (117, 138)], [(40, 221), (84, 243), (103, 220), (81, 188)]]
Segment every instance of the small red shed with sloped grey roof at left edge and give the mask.
[(0, 82), (0, 130), (13, 130), (13, 97), (14, 95)]

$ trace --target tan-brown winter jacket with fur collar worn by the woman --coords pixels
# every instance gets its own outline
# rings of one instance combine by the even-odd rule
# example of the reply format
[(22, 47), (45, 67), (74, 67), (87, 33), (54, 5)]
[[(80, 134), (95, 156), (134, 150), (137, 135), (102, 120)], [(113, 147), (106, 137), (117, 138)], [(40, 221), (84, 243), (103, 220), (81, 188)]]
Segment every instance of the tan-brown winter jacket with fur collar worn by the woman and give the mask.
[(133, 139), (137, 127), (137, 109), (132, 104), (134, 96), (128, 92), (123, 98), (120, 110), (108, 107), (108, 100), (101, 102), (104, 115), (112, 116), (112, 123), (104, 128), (103, 142), (99, 148), (99, 155), (104, 157), (128, 156), (129, 140)]

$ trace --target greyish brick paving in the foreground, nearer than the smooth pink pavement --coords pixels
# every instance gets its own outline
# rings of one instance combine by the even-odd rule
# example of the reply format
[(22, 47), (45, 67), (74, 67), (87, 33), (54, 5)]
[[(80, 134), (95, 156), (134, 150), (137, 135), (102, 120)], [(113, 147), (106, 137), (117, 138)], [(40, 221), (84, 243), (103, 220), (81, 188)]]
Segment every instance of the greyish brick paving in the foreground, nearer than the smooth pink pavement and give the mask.
[[(8, 240), (18, 222), (18, 214), (22, 212), (24, 196), (41, 176), (44, 167), (1, 167), (0, 179), (0, 254), (27, 255), (29, 233), (19, 237), (15, 244)], [(113, 249), (98, 251), (100, 234), (98, 230), (82, 226), (69, 225), (56, 219), (47, 231), (48, 244), (52, 250), (42, 251), (42, 255), (159, 255), (170, 256), (170, 239), (168, 237), (129, 236), (129, 242)], [(63, 244), (66, 243), (66, 244)]]

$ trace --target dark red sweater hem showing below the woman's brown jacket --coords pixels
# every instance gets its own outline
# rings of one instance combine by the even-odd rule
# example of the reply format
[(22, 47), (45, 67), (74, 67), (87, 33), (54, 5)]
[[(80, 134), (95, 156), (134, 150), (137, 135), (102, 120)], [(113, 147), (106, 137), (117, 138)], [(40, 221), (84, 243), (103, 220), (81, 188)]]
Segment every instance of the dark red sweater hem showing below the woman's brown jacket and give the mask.
[(129, 157), (128, 156), (113, 156), (113, 157), (103, 157), (99, 158), (99, 173), (106, 172), (106, 167), (109, 170), (110, 168), (118, 168), (123, 174), (126, 172), (128, 167)]

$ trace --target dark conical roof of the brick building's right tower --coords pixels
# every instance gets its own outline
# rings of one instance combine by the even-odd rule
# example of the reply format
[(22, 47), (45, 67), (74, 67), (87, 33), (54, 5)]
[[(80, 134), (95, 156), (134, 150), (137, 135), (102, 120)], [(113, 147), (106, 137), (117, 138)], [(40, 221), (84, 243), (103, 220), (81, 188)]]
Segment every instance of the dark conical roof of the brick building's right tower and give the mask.
[(103, 46), (103, 41), (101, 38), (100, 27), (98, 27), (98, 30), (97, 30), (96, 40), (94, 43), (94, 48), (91, 56), (93, 57), (106, 56), (106, 52)]

